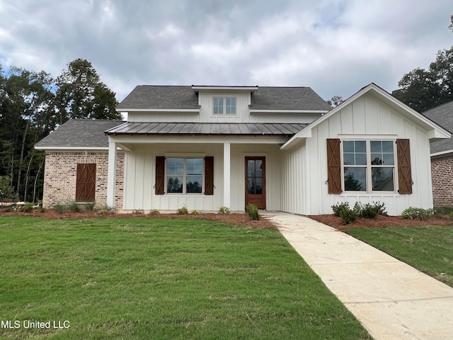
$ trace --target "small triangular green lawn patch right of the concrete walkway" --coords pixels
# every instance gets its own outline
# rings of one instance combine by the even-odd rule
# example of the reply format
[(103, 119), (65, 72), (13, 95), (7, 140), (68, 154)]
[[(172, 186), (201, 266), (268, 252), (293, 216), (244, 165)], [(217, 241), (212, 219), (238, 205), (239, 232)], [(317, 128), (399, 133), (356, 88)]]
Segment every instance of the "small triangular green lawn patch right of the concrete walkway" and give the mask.
[(452, 226), (360, 228), (344, 231), (453, 287)]

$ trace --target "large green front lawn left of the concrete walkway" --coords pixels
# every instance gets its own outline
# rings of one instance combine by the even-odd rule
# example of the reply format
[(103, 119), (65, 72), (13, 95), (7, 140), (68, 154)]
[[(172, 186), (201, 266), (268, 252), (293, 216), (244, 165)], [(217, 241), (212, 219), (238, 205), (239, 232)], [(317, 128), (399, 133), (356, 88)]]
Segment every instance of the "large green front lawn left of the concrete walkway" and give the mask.
[(369, 339), (273, 229), (0, 217), (1, 339)]

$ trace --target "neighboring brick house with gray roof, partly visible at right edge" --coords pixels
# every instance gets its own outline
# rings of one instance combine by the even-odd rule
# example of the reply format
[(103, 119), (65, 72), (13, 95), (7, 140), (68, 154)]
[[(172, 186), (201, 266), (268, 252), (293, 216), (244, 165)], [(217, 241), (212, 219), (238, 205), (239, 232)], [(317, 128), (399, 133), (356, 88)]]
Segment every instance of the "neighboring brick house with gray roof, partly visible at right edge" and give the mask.
[[(453, 101), (423, 115), (453, 131)], [(436, 207), (453, 207), (453, 138), (432, 142), (430, 149), (433, 203)]]

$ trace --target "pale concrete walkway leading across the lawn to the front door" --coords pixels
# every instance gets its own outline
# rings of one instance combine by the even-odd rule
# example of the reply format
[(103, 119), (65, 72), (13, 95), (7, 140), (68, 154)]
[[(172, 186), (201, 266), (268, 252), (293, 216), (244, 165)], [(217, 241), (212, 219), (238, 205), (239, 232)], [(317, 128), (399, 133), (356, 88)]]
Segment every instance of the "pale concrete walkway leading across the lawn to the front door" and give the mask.
[(308, 217), (263, 216), (374, 339), (453, 339), (453, 288)]

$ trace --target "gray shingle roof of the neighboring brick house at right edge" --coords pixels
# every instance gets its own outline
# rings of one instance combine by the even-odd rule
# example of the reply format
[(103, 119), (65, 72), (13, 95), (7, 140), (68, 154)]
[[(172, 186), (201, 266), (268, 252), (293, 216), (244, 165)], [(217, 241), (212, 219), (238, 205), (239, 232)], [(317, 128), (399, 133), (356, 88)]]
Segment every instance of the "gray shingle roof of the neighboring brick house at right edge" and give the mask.
[[(422, 113), (443, 128), (453, 131), (453, 101), (442, 104)], [(439, 140), (430, 144), (431, 154), (446, 154), (453, 152), (453, 137)]]

